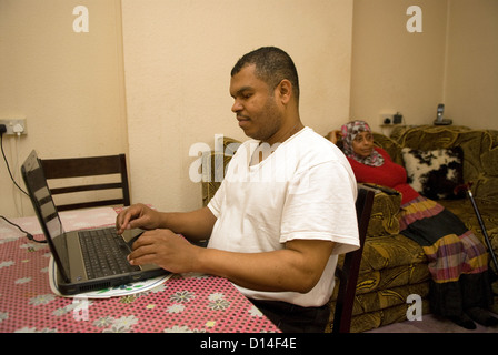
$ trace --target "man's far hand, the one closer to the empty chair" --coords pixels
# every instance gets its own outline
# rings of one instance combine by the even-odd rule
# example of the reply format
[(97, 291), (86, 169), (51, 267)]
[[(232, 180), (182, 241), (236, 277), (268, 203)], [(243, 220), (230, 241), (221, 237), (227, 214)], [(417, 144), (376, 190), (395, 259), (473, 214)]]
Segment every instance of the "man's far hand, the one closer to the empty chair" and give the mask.
[(145, 204), (135, 204), (118, 214), (116, 230), (118, 234), (130, 229), (153, 230), (160, 226), (161, 214)]

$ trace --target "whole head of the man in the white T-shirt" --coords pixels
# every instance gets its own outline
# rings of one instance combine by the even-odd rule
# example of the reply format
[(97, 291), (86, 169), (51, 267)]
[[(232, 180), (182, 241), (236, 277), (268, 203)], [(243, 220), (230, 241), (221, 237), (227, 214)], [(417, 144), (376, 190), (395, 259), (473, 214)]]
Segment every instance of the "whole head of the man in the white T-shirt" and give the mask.
[(252, 139), (273, 144), (301, 129), (298, 94), (296, 67), (277, 48), (261, 48), (243, 55), (231, 71), (231, 110), (239, 126)]

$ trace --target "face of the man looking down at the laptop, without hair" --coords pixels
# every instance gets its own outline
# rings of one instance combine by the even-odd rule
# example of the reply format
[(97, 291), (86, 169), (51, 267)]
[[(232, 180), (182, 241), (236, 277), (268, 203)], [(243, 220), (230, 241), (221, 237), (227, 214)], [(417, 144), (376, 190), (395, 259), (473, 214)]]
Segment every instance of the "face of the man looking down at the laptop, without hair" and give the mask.
[(282, 125), (282, 112), (276, 101), (276, 90), (256, 78), (255, 65), (242, 68), (230, 80), (231, 111), (247, 136), (270, 142)]

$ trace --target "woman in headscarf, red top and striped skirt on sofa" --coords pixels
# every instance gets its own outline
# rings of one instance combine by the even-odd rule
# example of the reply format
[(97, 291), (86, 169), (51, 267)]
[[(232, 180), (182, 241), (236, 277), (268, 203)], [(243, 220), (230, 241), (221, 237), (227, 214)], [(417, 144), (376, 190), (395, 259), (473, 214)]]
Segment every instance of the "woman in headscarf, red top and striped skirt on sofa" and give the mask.
[(486, 326), (498, 324), (485, 311), (492, 303), (488, 255), (475, 234), (450, 211), (411, 189), (405, 168), (374, 146), (366, 122), (348, 122), (329, 135), (333, 143), (339, 138), (358, 182), (385, 185), (402, 194), (400, 233), (420, 244), (429, 260), (431, 312), (468, 329), (476, 328), (472, 320)]

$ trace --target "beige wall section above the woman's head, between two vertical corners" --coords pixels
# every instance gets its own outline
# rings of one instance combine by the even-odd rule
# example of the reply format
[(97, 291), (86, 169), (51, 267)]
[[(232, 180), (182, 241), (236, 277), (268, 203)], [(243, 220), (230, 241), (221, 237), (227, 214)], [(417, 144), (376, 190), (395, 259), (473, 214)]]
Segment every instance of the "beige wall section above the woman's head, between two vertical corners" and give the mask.
[[(407, 31), (410, 4), (422, 10), (421, 33)], [(442, 101), (446, 12), (446, 0), (355, 1), (352, 119), (379, 131), (381, 113), (399, 111), (407, 124), (434, 121)]]

